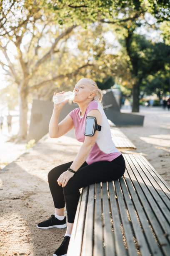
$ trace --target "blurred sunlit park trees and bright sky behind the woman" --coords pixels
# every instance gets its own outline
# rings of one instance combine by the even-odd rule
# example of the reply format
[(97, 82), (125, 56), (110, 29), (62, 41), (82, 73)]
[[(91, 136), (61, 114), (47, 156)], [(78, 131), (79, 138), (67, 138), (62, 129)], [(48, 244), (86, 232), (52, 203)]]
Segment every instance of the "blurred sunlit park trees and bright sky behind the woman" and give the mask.
[(18, 143), (15, 159), (34, 143), (33, 100), (51, 102), (82, 77), (112, 90), (120, 109), (168, 111), (169, 0), (0, 0), (1, 167), (6, 147)]

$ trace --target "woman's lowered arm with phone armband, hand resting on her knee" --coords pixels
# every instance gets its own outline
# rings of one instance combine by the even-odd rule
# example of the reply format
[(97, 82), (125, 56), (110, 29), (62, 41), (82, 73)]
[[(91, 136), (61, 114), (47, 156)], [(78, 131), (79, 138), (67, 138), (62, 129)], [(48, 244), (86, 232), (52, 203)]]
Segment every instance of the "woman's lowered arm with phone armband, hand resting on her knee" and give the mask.
[[(102, 121), (102, 116), (99, 112), (99, 110), (91, 110), (87, 116), (94, 116), (97, 120), (97, 124), (100, 125)], [(79, 152), (77, 153), (77, 156), (75, 157), (75, 160), (70, 166), (70, 169), (74, 170), (75, 172), (82, 166), (82, 164), (87, 159), (87, 156), (90, 154), (90, 151), (92, 150), (92, 147), (95, 145), (96, 139), (97, 139), (98, 131), (95, 131), (94, 136), (85, 136), (85, 141), (83, 142)], [(62, 184), (62, 187), (65, 187), (68, 180), (73, 176), (74, 174), (70, 171), (63, 172), (60, 177), (57, 179), (57, 182), (59, 185)], [(65, 182), (63, 182), (65, 180)]]

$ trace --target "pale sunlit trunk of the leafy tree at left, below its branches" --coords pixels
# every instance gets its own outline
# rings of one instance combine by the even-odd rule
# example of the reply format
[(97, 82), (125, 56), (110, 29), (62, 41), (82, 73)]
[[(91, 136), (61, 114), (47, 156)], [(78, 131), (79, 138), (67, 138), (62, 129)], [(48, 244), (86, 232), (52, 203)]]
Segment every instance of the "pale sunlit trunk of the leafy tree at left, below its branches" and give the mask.
[(18, 141), (25, 140), (27, 137), (27, 113), (28, 113), (28, 102), (27, 93), (19, 88), (19, 108), (20, 108), (20, 128), (18, 132)]

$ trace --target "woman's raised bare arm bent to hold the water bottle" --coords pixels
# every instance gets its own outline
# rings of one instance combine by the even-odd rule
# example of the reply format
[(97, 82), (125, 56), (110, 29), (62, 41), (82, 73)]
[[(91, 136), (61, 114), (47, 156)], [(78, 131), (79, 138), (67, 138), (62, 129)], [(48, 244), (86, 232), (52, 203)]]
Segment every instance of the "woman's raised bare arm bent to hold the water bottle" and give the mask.
[(60, 123), (58, 123), (60, 111), (67, 101), (68, 100), (59, 104), (54, 103), (54, 109), (49, 125), (50, 138), (59, 138), (74, 127), (73, 120), (70, 115), (67, 115)]

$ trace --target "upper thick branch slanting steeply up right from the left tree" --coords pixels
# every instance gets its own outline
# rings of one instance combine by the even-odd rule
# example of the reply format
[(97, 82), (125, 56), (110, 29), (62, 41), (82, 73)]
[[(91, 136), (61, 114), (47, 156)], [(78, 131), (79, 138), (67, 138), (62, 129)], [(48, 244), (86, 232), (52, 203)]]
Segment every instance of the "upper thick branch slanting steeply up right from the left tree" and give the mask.
[(55, 41), (52, 44), (50, 51), (48, 51), (41, 59), (39, 59), (37, 61), (37, 63), (35, 64), (34, 68), (32, 69), (32, 73), (37, 71), (37, 69), (40, 66), (40, 64), (42, 64), (50, 56), (50, 54), (52, 53), (52, 51), (54, 51), (54, 48), (57, 45), (57, 43), (60, 41), (60, 39), (62, 39), (67, 34), (69, 34), (75, 27), (77, 27), (77, 25), (74, 25), (74, 26), (71, 26), (70, 28), (67, 28), (67, 30), (65, 32), (61, 33), (60, 36), (55, 38)]

